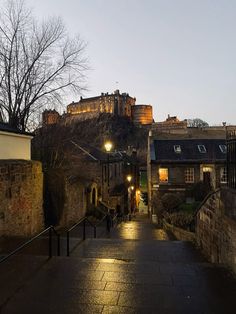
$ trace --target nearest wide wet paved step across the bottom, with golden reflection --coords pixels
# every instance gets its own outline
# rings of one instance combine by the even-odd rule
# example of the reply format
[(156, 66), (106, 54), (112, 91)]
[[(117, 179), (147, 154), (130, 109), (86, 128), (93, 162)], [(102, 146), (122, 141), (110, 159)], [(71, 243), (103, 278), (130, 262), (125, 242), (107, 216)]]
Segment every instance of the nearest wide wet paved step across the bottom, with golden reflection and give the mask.
[(16, 256), (0, 277), (1, 314), (223, 314), (236, 306), (235, 281), (204, 262)]

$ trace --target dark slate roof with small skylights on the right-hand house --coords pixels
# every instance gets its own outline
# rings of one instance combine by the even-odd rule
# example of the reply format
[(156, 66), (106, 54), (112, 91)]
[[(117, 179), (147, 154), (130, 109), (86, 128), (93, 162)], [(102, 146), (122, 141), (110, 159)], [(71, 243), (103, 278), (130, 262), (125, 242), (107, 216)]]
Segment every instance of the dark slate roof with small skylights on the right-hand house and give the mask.
[[(174, 145), (181, 147), (176, 153)], [(205, 153), (201, 153), (198, 145), (204, 145)], [(226, 145), (224, 139), (182, 139), (182, 140), (154, 140), (151, 147), (151, 160), (154, 162), (225, 162), (226, 153), (219, 145)]]

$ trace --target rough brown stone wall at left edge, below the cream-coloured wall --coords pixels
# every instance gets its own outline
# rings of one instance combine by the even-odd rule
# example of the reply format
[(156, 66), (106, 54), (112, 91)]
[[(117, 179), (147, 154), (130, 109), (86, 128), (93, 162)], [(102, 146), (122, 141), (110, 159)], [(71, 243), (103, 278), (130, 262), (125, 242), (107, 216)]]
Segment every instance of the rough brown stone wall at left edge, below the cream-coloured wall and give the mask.
[(0, 235), (31, 236), (44, 228), (40, 162), (0, 160)]

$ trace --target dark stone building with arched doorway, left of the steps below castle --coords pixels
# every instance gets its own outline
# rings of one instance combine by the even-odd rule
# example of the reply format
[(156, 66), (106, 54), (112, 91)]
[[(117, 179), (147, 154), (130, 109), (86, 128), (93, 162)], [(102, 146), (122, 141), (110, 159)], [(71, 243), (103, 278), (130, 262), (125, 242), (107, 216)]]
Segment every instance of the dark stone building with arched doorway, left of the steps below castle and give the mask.
[(123, 155), (112, 152), (108, 156), (77, 140), (68, 147), (68, 162), (73, 166), (45, 173), (47, 223), (69, 227), (97, 206), (124, 208)]

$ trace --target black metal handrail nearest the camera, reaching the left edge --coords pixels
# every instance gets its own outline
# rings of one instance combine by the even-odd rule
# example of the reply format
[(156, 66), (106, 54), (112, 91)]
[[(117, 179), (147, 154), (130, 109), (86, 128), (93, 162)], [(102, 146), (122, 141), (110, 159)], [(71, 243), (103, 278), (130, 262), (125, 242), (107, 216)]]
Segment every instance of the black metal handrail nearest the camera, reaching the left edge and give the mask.
[(24, 242), (23, 244), (21, 244), (19, 247), (17, 247), (14, 251), (12, 251), (11, 253), (9, 253), (8, 255), (4, 256), (1, 260), (0, 263), (4, 262), (5, 260), (7, 260), (9, 257), (11, 257), (12, 255), (18, 253), (19, 251), (21, 251), (23, 248), (25, 248), (26, 246), (28, 246), (29, 244), (31, 244), (34, 240), (38, 239), (41, 235), (49, 232), (49, 244), (48, 244), (48, 256), (49, 258), (52, 257), (52, 231), (54, 232), (54, 234), (57, 236), (57, 256), (60, 256), (60, 234), (57, 233), (57, 231), (55, 230), (55, 228), (53, 226), (49, 226), (48, 228), (44, 229), (43, 231), (41, 231), (40, 233), (36, 234), (33, 238), (29, 239), (28, 241)]

